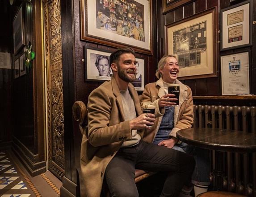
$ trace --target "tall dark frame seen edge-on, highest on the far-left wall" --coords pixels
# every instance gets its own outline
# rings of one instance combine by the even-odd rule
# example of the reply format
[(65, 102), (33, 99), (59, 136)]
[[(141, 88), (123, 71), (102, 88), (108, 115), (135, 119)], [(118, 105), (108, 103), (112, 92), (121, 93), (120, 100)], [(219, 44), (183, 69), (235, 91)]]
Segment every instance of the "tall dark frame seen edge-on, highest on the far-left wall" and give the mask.
[(22, 4), (13, 19), (13, 47), (14, 54), (25, 46), (24, 19), (22, 12)]

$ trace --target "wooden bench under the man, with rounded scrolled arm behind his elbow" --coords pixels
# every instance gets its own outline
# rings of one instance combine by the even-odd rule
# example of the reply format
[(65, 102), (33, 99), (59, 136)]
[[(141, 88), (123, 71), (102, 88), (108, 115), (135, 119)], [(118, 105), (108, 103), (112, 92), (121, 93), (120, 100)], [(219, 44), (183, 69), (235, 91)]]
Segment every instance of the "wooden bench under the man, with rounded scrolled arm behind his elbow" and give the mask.
[[(84, 135), (84, 130), (88, 124), (87, 114), (88, 114), (88, 111), (84, 102), (76, 101), (73, 104), (72, 115), (73, 115), (73, 118), (76, 120), (76, 122), (78, 122), (79, 124), (81, 135)], [(146, 172), (144, 170), (135, 169), (135, 183), (138, 183), (139, 181), (142, 181), (143, 179), (155, 173), (156, 172)]]

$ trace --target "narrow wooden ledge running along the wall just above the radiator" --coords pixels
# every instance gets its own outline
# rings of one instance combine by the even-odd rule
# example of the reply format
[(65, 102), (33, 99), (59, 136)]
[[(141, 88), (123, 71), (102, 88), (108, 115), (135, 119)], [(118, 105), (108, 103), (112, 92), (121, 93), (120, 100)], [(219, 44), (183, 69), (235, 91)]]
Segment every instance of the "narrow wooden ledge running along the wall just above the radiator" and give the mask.
[(193, 100), (256, 100), (253, 95), (239, 95), (239, 96), (193, 96)]

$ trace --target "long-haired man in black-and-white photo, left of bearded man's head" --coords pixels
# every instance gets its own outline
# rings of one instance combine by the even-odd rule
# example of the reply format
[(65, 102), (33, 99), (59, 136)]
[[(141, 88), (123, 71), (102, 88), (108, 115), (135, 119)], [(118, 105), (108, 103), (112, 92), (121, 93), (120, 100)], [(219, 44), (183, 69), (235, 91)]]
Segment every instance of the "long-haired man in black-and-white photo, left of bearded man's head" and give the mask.
[(111, 76), (110, 75), (110, 66), (109, 66), (109, 57), (106, 55), (98, 55), (95, 66), (99, 71), (99, 76)]

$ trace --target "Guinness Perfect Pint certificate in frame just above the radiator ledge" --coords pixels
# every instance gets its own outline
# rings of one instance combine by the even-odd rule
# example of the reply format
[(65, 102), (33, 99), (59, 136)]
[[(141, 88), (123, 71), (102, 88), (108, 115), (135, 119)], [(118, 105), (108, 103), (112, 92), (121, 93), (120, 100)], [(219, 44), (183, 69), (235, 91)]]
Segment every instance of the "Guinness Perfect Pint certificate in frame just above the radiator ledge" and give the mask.
[(222, 95), (250, 94), (249, 52), (221, 56)]

